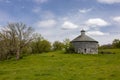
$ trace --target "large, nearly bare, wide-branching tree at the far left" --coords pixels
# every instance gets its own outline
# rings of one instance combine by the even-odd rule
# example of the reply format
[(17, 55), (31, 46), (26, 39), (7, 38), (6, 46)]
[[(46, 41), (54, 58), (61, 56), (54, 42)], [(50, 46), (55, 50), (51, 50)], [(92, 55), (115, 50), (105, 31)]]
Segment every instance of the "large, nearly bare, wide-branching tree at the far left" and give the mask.
[(7, 53), (15, 54), (20, 59), (20, 53), (33, 40), (33, 29), (23, 23), (8, 23), (0, 32), (1, 41)]

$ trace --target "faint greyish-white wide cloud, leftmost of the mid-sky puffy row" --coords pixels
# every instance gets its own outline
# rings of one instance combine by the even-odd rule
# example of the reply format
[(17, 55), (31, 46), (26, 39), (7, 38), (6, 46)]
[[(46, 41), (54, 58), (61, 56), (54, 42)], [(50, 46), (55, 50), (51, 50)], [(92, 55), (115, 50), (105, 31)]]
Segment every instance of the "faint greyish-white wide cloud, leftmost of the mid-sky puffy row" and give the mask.
[(56, 25), (56, 21), (53, 19), (49, 19), (49, 20), (43, 20), (43, 21), (38, 21), (37, 23), (35, 23), (35, 25), (37, 27), (44, 27), (44, 28), (48, 28), (48, 27), (54, 27)]

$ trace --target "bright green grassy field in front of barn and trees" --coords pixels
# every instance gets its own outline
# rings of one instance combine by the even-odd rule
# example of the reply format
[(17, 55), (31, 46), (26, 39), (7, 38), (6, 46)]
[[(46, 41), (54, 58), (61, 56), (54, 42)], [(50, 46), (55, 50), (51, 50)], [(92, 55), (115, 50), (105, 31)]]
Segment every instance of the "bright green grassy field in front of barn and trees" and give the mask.
[(120, 80), (120, 50), (116, 54), (35, 54), (0, 62), (0, 80)]

